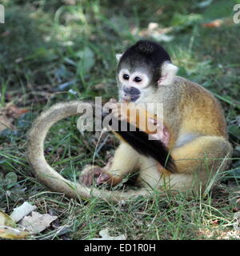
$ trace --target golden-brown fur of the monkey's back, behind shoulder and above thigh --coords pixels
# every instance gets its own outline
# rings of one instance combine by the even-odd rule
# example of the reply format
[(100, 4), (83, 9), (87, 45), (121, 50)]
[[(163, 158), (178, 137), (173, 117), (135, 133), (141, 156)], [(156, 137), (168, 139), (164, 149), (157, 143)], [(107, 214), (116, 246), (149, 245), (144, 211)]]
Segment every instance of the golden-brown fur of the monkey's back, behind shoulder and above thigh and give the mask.
[(214, 95), (186, 78), (176, 77), (175, 82), (182, 94), (179, 107), (185, 121), (181, 130), (228, 138), (223, 110)]

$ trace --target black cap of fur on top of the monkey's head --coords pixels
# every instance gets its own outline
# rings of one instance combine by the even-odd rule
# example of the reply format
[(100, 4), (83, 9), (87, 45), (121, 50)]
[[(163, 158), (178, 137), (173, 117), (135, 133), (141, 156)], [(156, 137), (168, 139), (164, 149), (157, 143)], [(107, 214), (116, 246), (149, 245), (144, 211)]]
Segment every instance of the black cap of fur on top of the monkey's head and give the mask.
[(163, 62), (171, 62), (170, 55), (157, 42), (140, 40), (126, 50), (118, 65), (118, 72), (122, 66), (127, 66), (131, 70), (136, 68), (146, 69), (154, 82), (158, 81), (161, 75)]

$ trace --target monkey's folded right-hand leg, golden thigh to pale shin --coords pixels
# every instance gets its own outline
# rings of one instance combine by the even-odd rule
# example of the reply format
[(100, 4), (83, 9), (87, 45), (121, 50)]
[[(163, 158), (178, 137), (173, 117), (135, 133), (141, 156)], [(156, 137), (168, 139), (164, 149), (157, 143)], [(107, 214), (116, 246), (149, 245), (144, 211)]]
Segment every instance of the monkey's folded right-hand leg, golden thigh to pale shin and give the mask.
[[(172, 150), (177, 174), (166, 174), (152, 158), (141, 158), (141, 172), (138, 182), (159, 190), (199, 190), (220, 168), (223, 170), (230, 158), (232, 147), (225, 138), (201, 136)], [(219, 171), (221, 171), (219, 170)]]

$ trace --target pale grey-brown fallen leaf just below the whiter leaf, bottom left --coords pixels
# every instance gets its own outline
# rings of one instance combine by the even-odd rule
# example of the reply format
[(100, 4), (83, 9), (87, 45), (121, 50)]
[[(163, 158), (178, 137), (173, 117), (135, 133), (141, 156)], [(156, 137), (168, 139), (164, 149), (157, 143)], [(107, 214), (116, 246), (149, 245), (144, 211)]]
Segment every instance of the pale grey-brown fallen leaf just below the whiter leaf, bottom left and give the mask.
[(39, 214), (37, 211), (33, 211), (31, 216), (26, 216), (22, 219), (20, 224), (26, 228), (30, 233), (37, 234), (46, 230), (50, 223), (57, 219), (57, 216), (51, 216), (50, 214)]

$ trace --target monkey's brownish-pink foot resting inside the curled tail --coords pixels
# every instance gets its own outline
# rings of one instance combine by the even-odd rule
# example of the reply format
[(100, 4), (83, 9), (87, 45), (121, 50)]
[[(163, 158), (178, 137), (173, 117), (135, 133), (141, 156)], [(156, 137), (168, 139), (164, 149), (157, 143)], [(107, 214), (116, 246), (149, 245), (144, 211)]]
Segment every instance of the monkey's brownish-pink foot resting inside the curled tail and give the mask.
[(94, 183), (94, 179), (96, 179), (96, 183), (100, 185), (108, 182), (110, 178), (110, 174), (106, 174), (103, 168), (99, 166), (86, 166), (79, 176), (80, 182), (86, 186), (91, 186)]

